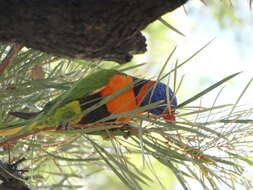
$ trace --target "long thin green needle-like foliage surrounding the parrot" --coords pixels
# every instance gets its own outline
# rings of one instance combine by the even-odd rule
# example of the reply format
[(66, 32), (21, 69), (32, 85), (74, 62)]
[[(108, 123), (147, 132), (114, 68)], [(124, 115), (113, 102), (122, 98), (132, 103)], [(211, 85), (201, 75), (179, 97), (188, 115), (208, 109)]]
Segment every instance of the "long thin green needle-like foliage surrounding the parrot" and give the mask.
[[(16, 45), (0, 45), (2, 61), (6, 60), (14, 47)], [(175, 64), (169, 73), (163, 73), (162, 70), (157, 80), (180, 72), (179, 67), (191, 58)], [(80, 79), (93, 76), (89, 74), (103, 66), (101, 63), (95, 65), (60, 59), (26, 48), (21, 48), (8, 59), (7, 67), (0, 73), (0, 129), (9, 127), (5, 125), (10, 123), (29, 125), (9, 116), (8, 112), (39, 111), (59, 95), (62, 95), (59, 98), (62, 101), (64, 96), (73, 93)], [(131, 68), (134, 67), (128, 69)], [(117, 69), (125, 70), (120, 67)], [(149, 162), (151, 158), (172, 171), (183, 189), (193, 189), (192, 180), (199, 182), (203, 189), (219, 189), (221, 186), (237, 189), (238, 185), (250, 189), (252, 185), (243, 170), (253, 163), (250, 151), (253, 121), (248, 118), (252, 108), (240, 106), (240, 98), (251, 81), (242, 89), (235, 104), (190, 106), (228, 80), (234, 80), (237, 75), (231, 74), (180, 102), (175, 123), (165, 123), (158, 117), (145, 114), (133, 116), (136, 112), (157, 105), (153, 104), (111, 115), (96, 123), (75, 126), (77, 128), (70, 126), (67, 130), (50, 128), (47, 131), (45, 127), (43, 132), (48, 132), (46, 134), (36, 129), (18, 131), (17, 134), (1, 137), (1, 161), (15, 162), (25, 157), (19, 168), (28, 170), (23, 175), (28, 177), (26, 183), (34, 189), (83, 189), (88, 176), (104, 170), (112, 171), (127, 189), (147, 189), (152, 183), (158, 183), (161, 189), (166, 189), (160, 180), (160, 173), (152, 169), (152, 162)], [(177, 78), (176, 74), (174, 78)], [(174, 84), (175, 92), (180, 90), (178, 86)], [(101, 100), (96, 106), (110, 98)], [(51, 102), (51, 108), (57, 107), (59, 101)], [(89, 111), (92, 110), (86, 110)], [(86, 114), (85, 111), (82, 114)], [(132, 116), (133, 120), (106, 122), (122, 116)], [(36, 117), (32, 122), (39, 119)], [(143, 172), (139, 163), (133, 162), (132, 158), (136, 155), (142, 157), (142, 165), (150, 169), (151, 175)]]

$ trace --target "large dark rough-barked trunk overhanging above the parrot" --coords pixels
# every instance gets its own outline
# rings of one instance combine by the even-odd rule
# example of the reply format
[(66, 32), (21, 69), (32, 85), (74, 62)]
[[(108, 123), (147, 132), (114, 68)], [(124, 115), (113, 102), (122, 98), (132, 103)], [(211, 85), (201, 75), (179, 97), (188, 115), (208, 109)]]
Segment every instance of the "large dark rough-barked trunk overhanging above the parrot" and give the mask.
[(187, 0), (1, 0), (0, 41), (58, 56), (127, 62), (149, 23)]

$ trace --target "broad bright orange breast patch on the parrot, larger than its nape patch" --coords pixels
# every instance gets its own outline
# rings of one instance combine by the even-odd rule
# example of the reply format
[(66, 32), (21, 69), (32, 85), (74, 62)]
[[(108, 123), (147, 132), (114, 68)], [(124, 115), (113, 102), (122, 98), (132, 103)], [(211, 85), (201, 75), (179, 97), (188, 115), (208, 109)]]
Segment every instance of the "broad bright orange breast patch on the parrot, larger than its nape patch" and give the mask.
[[(101, 90), (100, 95), (102, 96), (111, 95), (132, 82), (133, 82), (132, 77), (120, 74), (114, 75), (110, 79), (109, 83), (105, 86), (105, 88)], [(133, 88), (130, 87), (128, 90), (124, 91), (120, 95), (108, 101), (106, 103), (106, 106), (110, 113), (115, 114), (136, 109), (138, 105), (136, 103)], [(124, 117), (120, 118), (119, 120), (128, 120), (128, 119), (130, 118)]]

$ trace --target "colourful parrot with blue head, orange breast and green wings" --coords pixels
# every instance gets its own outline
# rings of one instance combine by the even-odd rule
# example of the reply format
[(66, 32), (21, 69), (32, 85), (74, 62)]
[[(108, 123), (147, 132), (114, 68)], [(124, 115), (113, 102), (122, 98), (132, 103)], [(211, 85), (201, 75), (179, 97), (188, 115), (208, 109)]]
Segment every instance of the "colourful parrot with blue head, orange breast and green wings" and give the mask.
[[(118, 94), (104, 104), (96, 106), (103, 98), (113, 96), (117, 92)], [(157, 116), (162, 115), (167, 122), (175, 121), (177, 99), (170, 87), (161, 82), (139, 79), (113, 69), (104, 69), (81, 79), (72, 89), (47, 103), (39, 112), (9, 112), (9, 115), (27, 120), (50, 112), (50, 119), (45, 120), (44, 125), (61, 125), (63, 120), (76, 124), (90, 124), (112, 114), (133, 111), (157, 102), (159, 104), (156, 107), (133, 115), (148, 112)], [(96, 107), (82, 114), (92, 106)], [(73, 118), (75, 115), (79, 116)], [(128, 120), (131, 120), (131, 115), (109, 121)]]

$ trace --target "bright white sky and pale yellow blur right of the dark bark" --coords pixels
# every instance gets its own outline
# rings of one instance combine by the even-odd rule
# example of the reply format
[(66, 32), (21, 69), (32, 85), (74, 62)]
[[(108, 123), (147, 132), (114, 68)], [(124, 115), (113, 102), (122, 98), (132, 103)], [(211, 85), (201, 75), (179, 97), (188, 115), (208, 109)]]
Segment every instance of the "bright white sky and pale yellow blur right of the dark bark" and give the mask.
[[(243, 71), (242, 74), (226, 83), (218, 101), (219, 104), (234, 103), (253, 77), (253, 19), (250, 17), (251, 12), (248, 4), (246, 1), (244, 2), (245, 4), (240, 3), (241, 7), (236, 7), (244, 24), (241, 26), (233, 24), (225, 17), (224, 23), (229, 25), (227, 29), (220, 27), (210, 8), (203, 5), (200, 0), (192, 0), (186, 4), (188, 15), (183, 8), (165, 15), (163, 18), (184, 33), (185, 37), (168, 28), (167, 37), (150, 39), (156, 37), (147, 36), (152, 41), (148, 44), (148, 53), (137, 56), (136, 59), (138, 63), (148, 63), (145, 76), (158, 75), (175, 45), (177, 50), (171, 63), (174, 63), (176, 59), (179, 59), (179, 63), (181, 63), (215, 38), (207, 48), (178, 71), (178, 81), (183, 75), (185, 75), (185, 79), (177, 97), (179, 101), (183, 101), (226, 76)], [(156, 24), (162, 25), (159, 22)], [(152, 47), (155, 48), (152, 49)], [(168, 65), (169, 68), (171, 65)], [(205, 96), (207, 100), (202, 99), (202, 103), (206, 103), (207, 106), (212, 104), (210, 99), (213, 100), (217, 93), (218, 90)], [(252, 104), (252, 93), (253, 87), (250, 86), (240, 103)]]

